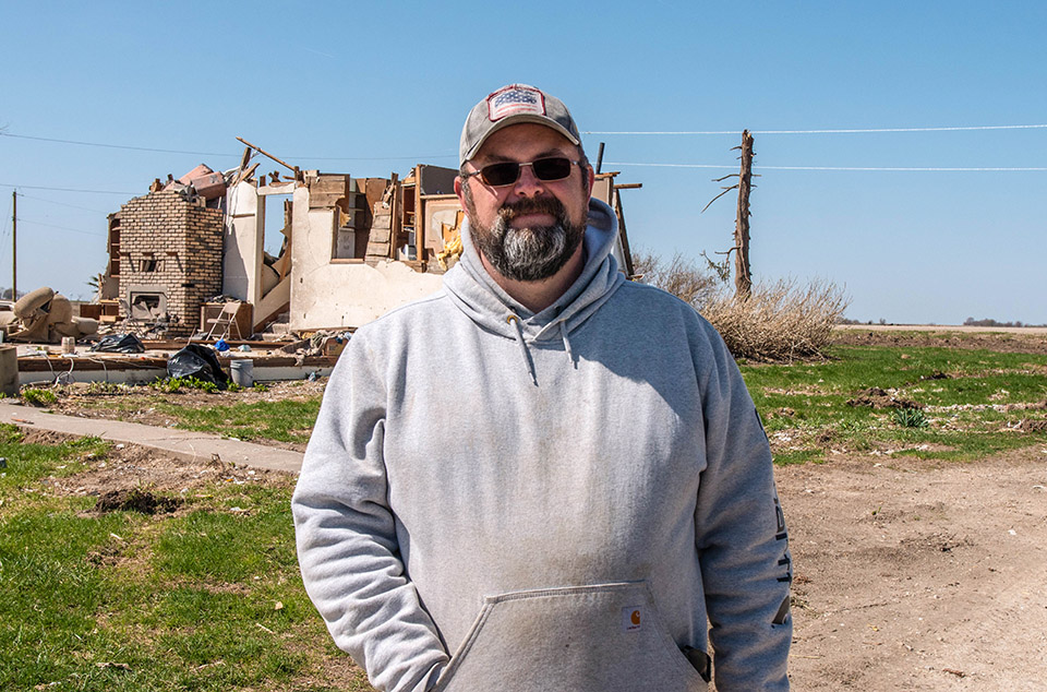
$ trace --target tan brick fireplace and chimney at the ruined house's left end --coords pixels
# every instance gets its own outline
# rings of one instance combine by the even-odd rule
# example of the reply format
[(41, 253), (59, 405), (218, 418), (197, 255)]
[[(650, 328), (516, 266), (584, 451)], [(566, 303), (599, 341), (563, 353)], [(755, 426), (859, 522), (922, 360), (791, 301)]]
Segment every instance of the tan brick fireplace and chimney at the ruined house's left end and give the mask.
[(224, 214), (185, 196), (151, 192), (119, 212), (121, 317), (149, 322), (166, 314), (169, 337), (194, 334), (201, 306), (221, 293)]

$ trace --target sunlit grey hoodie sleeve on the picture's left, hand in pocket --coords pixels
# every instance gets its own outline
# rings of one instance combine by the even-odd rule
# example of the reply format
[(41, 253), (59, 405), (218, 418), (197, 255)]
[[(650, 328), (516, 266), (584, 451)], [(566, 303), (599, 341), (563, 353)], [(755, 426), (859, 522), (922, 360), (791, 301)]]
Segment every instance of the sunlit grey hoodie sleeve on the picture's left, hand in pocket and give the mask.
[(305, 590), (378, 690), (418, 691), (448, 656), (405, 574), (383, 460), (386, 389), (362, 335), (324, 393), (291, 509)]

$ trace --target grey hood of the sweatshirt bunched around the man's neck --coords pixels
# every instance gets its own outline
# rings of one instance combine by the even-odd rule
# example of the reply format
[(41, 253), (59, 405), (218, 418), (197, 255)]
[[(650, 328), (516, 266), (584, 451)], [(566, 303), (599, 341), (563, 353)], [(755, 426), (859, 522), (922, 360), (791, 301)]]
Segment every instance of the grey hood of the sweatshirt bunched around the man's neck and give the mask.
[(520, 342), (525, 351), (529, 343), (561, 338), (570, 356), (569, 334), (625, 282), (611, 254), (618, 222), (611, 207), (600, 200), (589, 200), (581, 274), (563, 296), (538, 313), (514, 300), (488, 274), (472, 244), (468, 224), (466, 219), (461, 228), (461, 260), (444, 277), (444, 291), (480, 327)]

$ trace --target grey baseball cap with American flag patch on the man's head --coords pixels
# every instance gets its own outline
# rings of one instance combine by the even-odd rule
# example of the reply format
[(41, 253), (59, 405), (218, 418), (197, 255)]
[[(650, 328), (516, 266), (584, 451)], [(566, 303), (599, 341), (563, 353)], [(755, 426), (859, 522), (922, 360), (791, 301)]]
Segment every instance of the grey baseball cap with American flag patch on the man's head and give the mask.
[(509, 84), (472, 107), (461, 129), (458, 163), (477, 155), (489, 136), (510, 124), (534, 122), (552, 128), (575, 145), (581, 144), (578, 126), (564, 102), (529, 84)]

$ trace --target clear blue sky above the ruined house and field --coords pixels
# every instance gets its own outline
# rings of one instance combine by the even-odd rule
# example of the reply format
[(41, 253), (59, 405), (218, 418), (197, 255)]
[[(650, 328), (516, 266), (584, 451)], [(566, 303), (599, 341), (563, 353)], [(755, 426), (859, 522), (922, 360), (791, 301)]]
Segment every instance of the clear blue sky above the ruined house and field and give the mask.
[[(24, 195), (20, 289), (86, 298), (106, 263), (106, 214), (168, 172), (236, 166), (238, 135), (303, 169), (455, 166), (469, 108), (526, 82), (568, 104), (591, 157), (605, 142), (605, 170), (642, 183), (623, 192), (634, 247), (696, 259), (730, 247), (733, 195), (698, 212), (725, 184), (712, 179), (736, 170), (731, 147), (748, 128), (757, 281), (833, 282), (863, 321), (1047, 323), (1047, 170), (790, 169), (1044, 169), (1047, 128), (769, 133), (1047, 124), (1044, 2), (0, 11), (0, 286), (12, 186)], [(598, 134), (698, 131), (731, 134)]]

